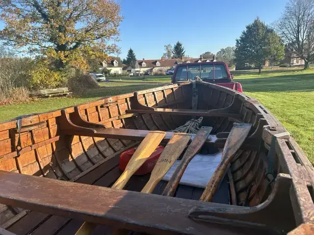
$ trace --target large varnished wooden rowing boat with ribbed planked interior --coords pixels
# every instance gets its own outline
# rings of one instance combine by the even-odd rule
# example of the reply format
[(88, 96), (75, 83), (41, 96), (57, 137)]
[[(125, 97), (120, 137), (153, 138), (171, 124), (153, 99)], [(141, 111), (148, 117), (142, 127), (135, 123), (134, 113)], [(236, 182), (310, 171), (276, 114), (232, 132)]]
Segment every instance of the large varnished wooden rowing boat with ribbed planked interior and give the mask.
[[(171, 131), (199, 117), (196, 134)], [(139, 144), (122, 174), (120, 154)], [(158, 144), (152, 175), (132, 175)], [(196, 153), (222, 149), (205, 189), (179, 184)], [(0, 234), (313, 234), (313, 187), (312, 164), (257, 100), (201, 81), (0, 123)]]

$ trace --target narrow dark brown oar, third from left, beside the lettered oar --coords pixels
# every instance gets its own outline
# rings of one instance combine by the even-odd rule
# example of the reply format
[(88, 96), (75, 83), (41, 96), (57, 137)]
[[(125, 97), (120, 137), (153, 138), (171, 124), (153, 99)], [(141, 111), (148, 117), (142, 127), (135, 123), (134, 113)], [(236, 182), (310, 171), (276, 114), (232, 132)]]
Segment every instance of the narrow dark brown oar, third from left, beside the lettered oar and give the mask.
[(161, 195), (173, 196), (182, 178), (184, 170), (186, 169), (187, 165), (192, 160), (192, 158), (195, 156), (195, 154), (197, 154), (200, 151), (205, 141), (207, 140), (207, 137), (209, 136), (209, 133), (211, 132), (211, 130), (212, 130), (212, 127), (202, 127), (197, 132), (193, 141), (187, 147), (182, 157), (182, 160), (180, 161), (178, 167), (176, 168), (175, 172), (171, 176), (166, 188), (163, 190)]

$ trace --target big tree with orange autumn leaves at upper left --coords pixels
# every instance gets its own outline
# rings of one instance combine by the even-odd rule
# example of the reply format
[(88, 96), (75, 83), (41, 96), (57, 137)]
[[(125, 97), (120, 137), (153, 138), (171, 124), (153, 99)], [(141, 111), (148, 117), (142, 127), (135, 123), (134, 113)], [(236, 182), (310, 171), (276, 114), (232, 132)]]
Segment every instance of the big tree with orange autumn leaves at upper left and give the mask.
[(114, 0), (1, 0), (0, 40), (46, 58), (55, 69), (87, 69), (119, 48), (120, 5)]

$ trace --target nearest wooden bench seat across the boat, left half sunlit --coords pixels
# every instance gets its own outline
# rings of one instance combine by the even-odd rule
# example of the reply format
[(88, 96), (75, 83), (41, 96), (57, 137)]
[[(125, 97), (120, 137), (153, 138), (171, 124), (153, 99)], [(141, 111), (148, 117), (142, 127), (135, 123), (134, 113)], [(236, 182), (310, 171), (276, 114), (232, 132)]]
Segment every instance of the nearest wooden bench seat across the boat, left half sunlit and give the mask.
[[(152, 234), (166, 232), (169, 234), (172, 231), (172, 233), (208, 235), (208, 231), (218, 233), (223, 229), (223, 226), (213, 227), (188, 218), (192, 208), (208, 205), (205, 202), (6, 171), (0, 171), (0, 179), (0, 203), (14, 204), (30, 210)], [(7, 184), (16, 187), (7, 188)], [(210, 205), (219, 206), (215, 203)], [(226, 207), (235, 206), (226, 205)], [(169, 208), (171, 213), (168, 212)], [(154, 220), (151, 219), (152, 213), (154, 213)], [(190, 228), (193, 228), (193, 231)], [(228, 230), (224, 232), (225, 235), (233, 234)]]

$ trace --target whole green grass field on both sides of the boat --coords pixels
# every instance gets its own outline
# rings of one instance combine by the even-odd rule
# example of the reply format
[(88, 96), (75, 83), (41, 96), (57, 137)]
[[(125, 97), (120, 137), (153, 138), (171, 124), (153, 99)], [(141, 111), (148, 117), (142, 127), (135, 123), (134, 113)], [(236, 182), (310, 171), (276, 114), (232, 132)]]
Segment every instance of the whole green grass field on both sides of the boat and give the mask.
[[(232, 71), (235, 81), (240, 82), (245, 94), (258, 99), (288, 129), (314, 164), (314, 70), (293, 69), (257, 71)], [(110, 78), (119, 81), (120, 78)], [(149, 89), (160, 86), (150, 82), (170, 83), (170, 76), (145, 76), (141, 78), (121, 78), (122, 81), (147, 82), (103, 83), (98, 89), (73, 98), (46, 98), (29, 103), (0, 106), (0, 121), (19, 115), (45, 112), (76, 105), (101, 98), (106, 95)]]

